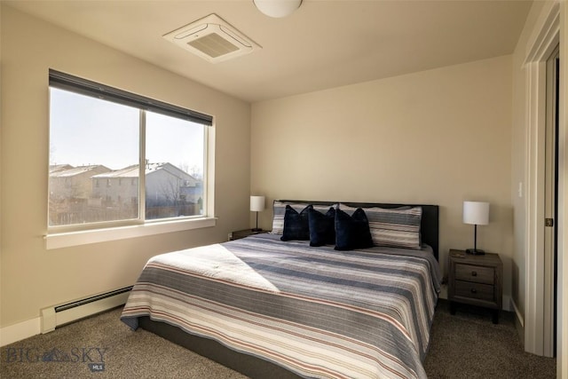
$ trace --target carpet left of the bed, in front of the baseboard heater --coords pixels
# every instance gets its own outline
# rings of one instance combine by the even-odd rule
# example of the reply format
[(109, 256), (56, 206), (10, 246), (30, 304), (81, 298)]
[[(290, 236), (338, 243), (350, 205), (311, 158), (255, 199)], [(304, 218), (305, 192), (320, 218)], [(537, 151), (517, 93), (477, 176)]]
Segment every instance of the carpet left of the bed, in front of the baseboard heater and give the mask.
[[(0, 377), (7, 378), (231, 378), (240, 375), (146, 330), (132, 332), (121, 309), (57, 328), (2, 348)], [(62, 361), (43, 361), (58, 349)], [(84, 350), (83, 350), (84, 349)], [(94, 350), (93, 350), (94, 349)], [(91, 372), (91, 365), (104, 367)], [(65, 354), (69, 360), (65, 361)], [(102, 369), (104, 368), (104, 371)]]

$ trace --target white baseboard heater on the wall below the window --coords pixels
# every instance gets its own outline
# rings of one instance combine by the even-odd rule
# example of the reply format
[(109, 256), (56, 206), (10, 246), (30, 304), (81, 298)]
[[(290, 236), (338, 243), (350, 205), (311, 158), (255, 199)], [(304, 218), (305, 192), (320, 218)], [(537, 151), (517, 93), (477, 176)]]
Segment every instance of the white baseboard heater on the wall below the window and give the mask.
[(62, 325), (126, 304), (131, 289), (132, 286), (114, 289), (67, 304), (43, 308), (41, 310), (41, 332), (42, 334), (52, 332)]

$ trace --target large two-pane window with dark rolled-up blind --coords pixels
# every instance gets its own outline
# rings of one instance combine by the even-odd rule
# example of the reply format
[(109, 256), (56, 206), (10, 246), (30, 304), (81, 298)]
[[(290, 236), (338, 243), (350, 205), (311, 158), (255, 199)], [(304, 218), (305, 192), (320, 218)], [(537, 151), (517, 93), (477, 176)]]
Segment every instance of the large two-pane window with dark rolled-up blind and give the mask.
[(211, 125), (207, 114), (50, 70), (50, 232), (206, 217)]

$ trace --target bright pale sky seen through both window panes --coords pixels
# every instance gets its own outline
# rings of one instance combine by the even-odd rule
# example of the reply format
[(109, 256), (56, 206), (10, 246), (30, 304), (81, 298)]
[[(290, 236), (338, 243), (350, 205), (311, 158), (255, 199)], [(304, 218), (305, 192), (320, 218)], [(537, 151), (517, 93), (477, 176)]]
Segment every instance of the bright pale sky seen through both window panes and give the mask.
[[(138, 163), (138, 109), (51, 88), (50, 164)], [(146, 159), (182, 170), (203, 167), (203, 128), (146, 112)]]

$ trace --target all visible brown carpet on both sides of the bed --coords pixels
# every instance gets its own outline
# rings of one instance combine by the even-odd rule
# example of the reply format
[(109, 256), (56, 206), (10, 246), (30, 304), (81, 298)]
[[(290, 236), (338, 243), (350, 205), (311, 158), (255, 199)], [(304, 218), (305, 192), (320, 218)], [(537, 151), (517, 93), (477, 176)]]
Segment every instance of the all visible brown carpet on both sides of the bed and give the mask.
[[(2, 347), (7, 378), (245, 378), (226, 367), (119, 320), (120, 309)], [(102, 358), (101, 358), (102, 357)], [(104, 364), (104, 365), (103, 365)], [(554, 378), (556, 359), (525, 353), (505, 312), (458, 309), (441, 300), (424, 362), (433, 378)], [(269, 378), (270, 379), (270, 378)]]

